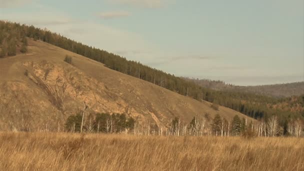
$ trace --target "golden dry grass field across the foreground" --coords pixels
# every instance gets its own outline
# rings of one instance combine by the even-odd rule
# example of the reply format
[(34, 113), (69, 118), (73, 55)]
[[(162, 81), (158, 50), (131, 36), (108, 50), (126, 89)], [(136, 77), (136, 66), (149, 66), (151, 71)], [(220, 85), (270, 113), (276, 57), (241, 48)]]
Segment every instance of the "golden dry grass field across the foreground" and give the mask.
[(304, 170), (304, 139), (0, 132), (0, 170)]

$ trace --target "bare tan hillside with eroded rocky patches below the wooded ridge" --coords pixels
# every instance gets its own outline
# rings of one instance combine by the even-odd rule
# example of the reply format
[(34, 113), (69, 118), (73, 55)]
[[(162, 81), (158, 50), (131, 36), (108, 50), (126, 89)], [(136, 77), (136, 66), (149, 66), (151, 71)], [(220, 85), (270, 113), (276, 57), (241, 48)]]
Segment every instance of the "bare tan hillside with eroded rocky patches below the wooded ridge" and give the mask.
[[(57, 127), (78, 112), (126, 113), (160, 127), (174, 116), (216, 113), (245, 115), (226, 107), (214, 110), (152, 83), (111, 70), (102, 63), (45, 42), (29, 40), (28, 53), (0, 59), (0, 130)], [(72, 64), (63, 61), (72, 56)]]

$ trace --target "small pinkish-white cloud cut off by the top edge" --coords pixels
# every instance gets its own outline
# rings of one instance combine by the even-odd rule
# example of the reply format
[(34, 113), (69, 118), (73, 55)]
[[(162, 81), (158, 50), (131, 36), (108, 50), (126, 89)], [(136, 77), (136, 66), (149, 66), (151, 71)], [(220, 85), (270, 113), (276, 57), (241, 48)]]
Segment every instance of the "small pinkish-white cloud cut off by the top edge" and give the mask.
[(126, 4), (131, 6), (140, 6), (140, 7), (161, 7), (165, 5), (168, 1), (172, 0), (108, 0), (110, 2), (118, 4)]

